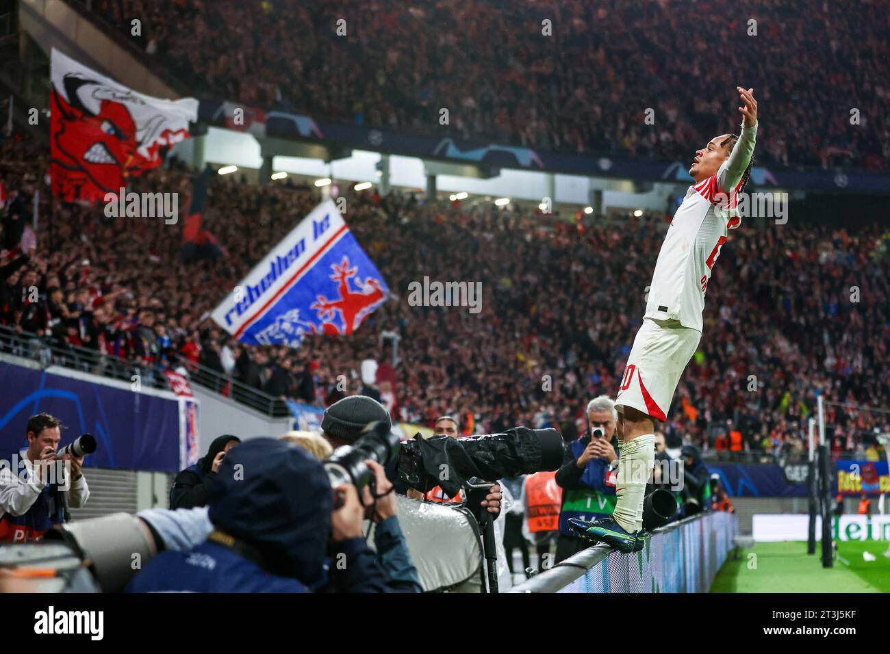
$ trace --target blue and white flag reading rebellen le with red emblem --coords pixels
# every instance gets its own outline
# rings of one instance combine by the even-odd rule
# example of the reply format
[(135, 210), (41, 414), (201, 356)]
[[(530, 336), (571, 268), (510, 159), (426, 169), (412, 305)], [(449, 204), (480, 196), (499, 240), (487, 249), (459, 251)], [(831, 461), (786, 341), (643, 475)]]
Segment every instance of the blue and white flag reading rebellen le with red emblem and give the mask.
[(331, 200), (312, 209), (211, 314), (244, 343), (299, 347), (348, 335), (389, 288)]

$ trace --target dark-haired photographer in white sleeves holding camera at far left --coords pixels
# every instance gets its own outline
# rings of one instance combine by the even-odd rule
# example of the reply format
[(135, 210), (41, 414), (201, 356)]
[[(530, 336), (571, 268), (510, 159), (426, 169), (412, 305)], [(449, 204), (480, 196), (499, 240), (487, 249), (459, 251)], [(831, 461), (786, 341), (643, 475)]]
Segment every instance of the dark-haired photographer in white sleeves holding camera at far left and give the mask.
[(18, 453), (25, 479), (0, 468), (0, 542), (39, 540), (47, 529), (68, 520), (68, 506), (83, 506), (90, 497), (81, 472), (84, 457), (69, 452), (61, 457), (65, 464), (56, 458), (59, 420), (45, 413), (31, 416), (26, 432), (28, 448)]

